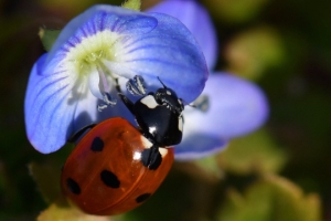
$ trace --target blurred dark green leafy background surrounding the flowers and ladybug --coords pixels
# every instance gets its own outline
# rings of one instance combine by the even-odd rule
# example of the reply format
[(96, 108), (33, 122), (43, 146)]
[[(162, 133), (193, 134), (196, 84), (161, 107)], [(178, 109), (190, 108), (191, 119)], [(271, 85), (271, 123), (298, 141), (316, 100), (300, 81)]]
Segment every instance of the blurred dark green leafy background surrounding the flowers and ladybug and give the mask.
[[(95, 3), (120, 1), (0, 1), (0, 220), (35, 220), (56, 199), (54, 165), (71, 148), (46, 156), (32, 148), (24, 93), (44, 52), (39, 28), (61, 29)], [(177, 162), (149, 201), (109, 220), (331, 220), (331, 1), (201, 3), (218, 34), (216, 70), (256, 82), (269, 98), (269, 120), (217, 156)]]

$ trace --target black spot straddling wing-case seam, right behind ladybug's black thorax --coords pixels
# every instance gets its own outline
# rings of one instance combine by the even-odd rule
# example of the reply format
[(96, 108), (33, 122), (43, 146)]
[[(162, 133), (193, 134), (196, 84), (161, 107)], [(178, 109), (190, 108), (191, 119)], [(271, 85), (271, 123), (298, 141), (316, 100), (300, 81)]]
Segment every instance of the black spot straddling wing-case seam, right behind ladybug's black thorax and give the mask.
[(152, 146), (149, 149), (145, 149), (141, 152), (141, 162), (145, 167), (148, 167), (150, 170), (156, 170), (162, 162), (162, 156), (159, 151), (159, 148)]

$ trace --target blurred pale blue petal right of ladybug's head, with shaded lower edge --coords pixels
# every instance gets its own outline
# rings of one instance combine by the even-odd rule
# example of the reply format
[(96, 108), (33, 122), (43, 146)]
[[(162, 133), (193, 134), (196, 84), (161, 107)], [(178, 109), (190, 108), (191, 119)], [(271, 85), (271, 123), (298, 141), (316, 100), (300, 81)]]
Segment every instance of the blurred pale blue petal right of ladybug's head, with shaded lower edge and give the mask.
[(263, 91), (237, 76), (212, 74), (202, 94), (209, 96), (210, 108), (206, 113), (185, 108), (183, 140), (175, 147), (178, 159), (220, 151), (226, 140), (257, 129), (268, 117), (269, 107)]

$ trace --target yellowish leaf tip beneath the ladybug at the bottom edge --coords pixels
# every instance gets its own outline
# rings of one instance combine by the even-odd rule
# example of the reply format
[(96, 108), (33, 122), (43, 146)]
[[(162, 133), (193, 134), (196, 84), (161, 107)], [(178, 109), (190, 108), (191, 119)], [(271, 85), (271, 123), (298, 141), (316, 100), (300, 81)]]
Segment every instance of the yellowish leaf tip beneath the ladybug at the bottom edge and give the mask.
[(38, 221), (110, 221), (108, 217), (90, 215), (72, 207), (65, 199), (61, 198), (52, 203), (36, 219)]

